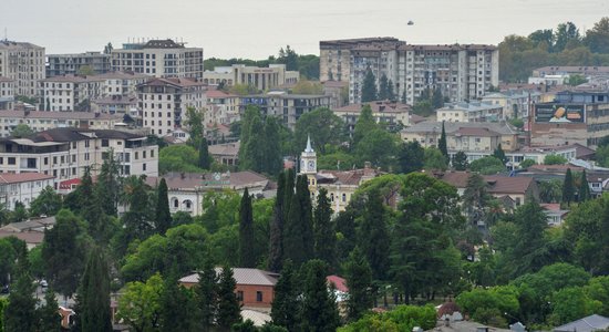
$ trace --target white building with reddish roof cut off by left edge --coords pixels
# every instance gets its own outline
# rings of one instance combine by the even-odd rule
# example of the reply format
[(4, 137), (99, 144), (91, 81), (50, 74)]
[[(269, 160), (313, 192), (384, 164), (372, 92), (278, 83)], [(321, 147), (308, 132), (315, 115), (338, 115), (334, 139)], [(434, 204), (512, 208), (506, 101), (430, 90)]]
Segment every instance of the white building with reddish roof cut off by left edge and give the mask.
[(18, 201), (29, 208), (30, 203), (47, 186), (54, 186), (53, 176), (40, 173), (0, 173), (0, 204), (8, 210), (13, 210)]

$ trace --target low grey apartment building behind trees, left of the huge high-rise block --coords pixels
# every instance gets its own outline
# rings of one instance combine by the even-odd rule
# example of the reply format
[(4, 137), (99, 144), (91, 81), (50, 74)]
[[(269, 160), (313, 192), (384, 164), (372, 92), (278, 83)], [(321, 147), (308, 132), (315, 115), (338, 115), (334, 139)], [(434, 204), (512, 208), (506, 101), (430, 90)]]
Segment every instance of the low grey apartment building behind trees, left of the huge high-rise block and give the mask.
[(269, 92), (261, 95), (242, 96), (240, 112), (245, 112), (248, 105), (259, 106), (262, 113), (279, 117), (288, 127), (293, 129), (296, 122), (302, 114), (319, 107), (329, 107), (330, 98), (329, 95)]

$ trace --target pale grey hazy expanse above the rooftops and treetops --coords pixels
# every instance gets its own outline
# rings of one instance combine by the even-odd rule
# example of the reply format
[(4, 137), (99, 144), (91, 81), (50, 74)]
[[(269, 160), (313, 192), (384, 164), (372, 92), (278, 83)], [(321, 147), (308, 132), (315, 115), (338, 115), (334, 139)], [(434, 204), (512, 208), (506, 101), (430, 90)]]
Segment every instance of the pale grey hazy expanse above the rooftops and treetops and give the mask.
[(6, 29), (47, 53), (178, 38), (205, 58), (265, 59), (286, 44), (319, 54), (320, 40), (360, 37), (497, 44), (565, 21), (589, 29), (603, 14), (609, 0), (0, 0), (0, 38)]

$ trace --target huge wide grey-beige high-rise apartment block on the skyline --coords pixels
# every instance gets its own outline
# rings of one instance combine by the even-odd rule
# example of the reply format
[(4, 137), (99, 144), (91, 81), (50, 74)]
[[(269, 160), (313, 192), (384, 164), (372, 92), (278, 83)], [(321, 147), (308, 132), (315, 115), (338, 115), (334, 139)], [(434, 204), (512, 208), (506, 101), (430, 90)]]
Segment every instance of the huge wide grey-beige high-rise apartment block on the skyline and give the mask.
[(427, 89), (451, 102), (481, 98), (499, 83), (499, 52), (494, 45), (410, 45), (392, 38), (320, 42), (321, 81), (349, 81), (349, 102), (361, 102), (368, 70), (384, 75), (396, 97), (414, 104)]

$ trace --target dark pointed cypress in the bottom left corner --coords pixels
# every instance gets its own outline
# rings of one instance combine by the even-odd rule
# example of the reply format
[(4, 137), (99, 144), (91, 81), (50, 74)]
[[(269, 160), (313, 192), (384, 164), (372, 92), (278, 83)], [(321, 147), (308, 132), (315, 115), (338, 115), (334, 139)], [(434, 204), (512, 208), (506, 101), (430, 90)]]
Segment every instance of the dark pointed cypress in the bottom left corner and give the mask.
[(4, 308), (4, 331), (34, 332), (37, 323), (34, 286), (27, 253), (19, 253), (16, 279), (11, 284), (9, 304)]

